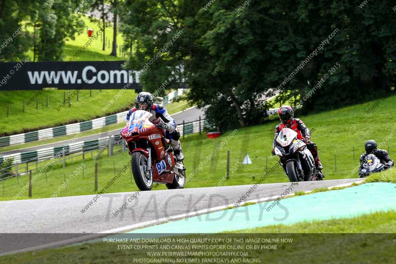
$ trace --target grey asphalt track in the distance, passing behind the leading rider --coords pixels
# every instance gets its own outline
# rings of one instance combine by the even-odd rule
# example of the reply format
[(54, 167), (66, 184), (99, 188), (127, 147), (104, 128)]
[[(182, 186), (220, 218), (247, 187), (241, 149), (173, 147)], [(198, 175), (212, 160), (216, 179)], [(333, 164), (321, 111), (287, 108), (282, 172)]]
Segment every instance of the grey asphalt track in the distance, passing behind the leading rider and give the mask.
[[(199, 116), (202, 119), (205, 118), (204, 109), (198, 109), (195, 106), (191, 107), (191, 108), (188, 108), (188, 109), (186, 109), (184, 111), (180, 111), (178, 113), (172, 114), (172, 117), (176, 120), (176, 123), (178, 124), (178, 126), (181, 126), (183, 124), (183, 120), (185, 122), (196, 121), (196, 120), (199, 119)], [(122, 126), (121, 123), (120, 123), (120, 126)], [(100, 130), (102, 130), (102, 129), (103, 128), (98, 128), (98, 132)], [(115, 130), (112, 130), (112, 131), (105, 131), (105, 132), (101, 132), (101, 133), (98, 133), (98, 134), (94, 134), (94, 135), (78, 138), (76, 140), (76, 142), (78, 142), (78, 141), (95, 140), (95, 139), (98, 139), (98, 138), (107, 137), (108, 135), (119, 135), (120, 131), (121, 131), (121, 129), (115, 129)], [(70, 136), (72, 137), (73, 135), (70, 135)], [(0, 157), (1, 156), (5, 156), (5, 155), (14, 154), (14, 153), (35, 151), (35, 150), (44, 149), (44, 148), (60, 147), (60, 146), (63, 146), (63, 144), (68, 144), (69, 141), (70, 140), (64, 140), (64, 141), (49, 143), (49, 144), (45, 144), (45, 145), (39, 145), (39, 146), (35, 146), (35, 147), (29, 147), (29, 148), (24, 148), (24, 149), (18, 149), (18, 150), (1, 152), (0, 153)]]

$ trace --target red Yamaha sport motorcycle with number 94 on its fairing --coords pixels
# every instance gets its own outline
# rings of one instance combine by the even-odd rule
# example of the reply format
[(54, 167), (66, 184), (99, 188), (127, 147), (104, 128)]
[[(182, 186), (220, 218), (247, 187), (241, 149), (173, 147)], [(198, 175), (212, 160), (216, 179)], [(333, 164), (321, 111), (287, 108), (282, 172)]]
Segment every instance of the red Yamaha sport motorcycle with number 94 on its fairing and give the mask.
[(166, 184), (168, 189), (181, 189), (186, 184), (183, 161), (176, 161), (170, 141), (163, 130), (151, 123), (148, 111), (137, 110), (130, 123), (121, 131), (132, 156), (132, 174), (141, 191), (149, 191), (154, 182)]

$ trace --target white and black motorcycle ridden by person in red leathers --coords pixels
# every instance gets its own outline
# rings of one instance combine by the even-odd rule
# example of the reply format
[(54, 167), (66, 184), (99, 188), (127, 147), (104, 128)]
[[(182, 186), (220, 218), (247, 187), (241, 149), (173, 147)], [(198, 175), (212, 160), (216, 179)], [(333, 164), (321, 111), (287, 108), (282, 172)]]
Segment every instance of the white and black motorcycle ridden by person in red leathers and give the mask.
[(291, 182), (323, 180), (321, 171), (316, 170), (315, 160), (306, 144), (297, 139), (297, 132), (284, 128), (279, 132), (275, 155)]

